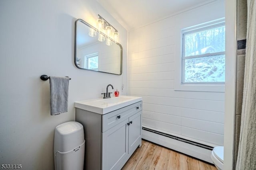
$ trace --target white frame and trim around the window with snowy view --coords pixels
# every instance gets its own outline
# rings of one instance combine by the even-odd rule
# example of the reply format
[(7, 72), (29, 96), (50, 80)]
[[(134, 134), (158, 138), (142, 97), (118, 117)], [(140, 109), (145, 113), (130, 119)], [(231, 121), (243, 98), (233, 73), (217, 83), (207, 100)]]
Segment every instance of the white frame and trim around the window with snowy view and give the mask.
[[(225, 82), (185, 82), (184, 83), (184, 74), (183, 74), (185, 59), (225, 54), (225, 52), (218, 52), (218, 53), (210, 53), (210, 55), (203, 54), (203, 55), (183, 57), (184, 33), (192, 33), (192, 32), (202, 31), (204, 29), (214, 28), (214, 27), (218, 27), (220, 25), (225, 25), (224, 18), (220, 18), (218, 20), (209, 21), (206, 23), (202, 23), (200, 25), (181, 29), (180, 40), (179, 40), (180, 41), (180, 55), (176, 57), (176, 59), (178, 59), (178, 60), (176, 60), (176, 64), (180, 64), (180, 66), (176, 67), (177, 69), (175, 69), (176, 77), (175, 77), (175, 81), (174, 81), (174, 90), (176, 90), (176, 91), (204, 91), (204, 92), (224, 92), (225, 91)], [(177, 63), (177, 62), (179, 62), (179, 63)]]

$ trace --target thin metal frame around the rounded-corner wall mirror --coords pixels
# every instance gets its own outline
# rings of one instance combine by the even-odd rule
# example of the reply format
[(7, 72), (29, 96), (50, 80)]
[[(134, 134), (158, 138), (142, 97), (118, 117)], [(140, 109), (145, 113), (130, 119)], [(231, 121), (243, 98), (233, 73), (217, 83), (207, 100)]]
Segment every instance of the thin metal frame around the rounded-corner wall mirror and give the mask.
[[(75, 65), (76, 65), (76, 67), (77, 68), (79, 68), (79, 69), (82, 69), (82, 70), (89, 70), (89, 71), (96, 71), (96, 72), (104, 72), (104, 71), (97, 71), (97, 70), (90, 70), (90, 69), (86, 69), (86, 68), (81, 68), (81, 67), (79, 67), (78, 65), (77, 65), (77, 63), (76, 63), (76, 40), (77, 40), (77, 23), (78, 23), (78, 21), (80, 21), (80, 22), (82, 22), (82, 23), (84, 23), (85, 25), (87, 25), (88, 27), (91, 27), (91, 28), (93, 28), (93, 29), (95, 29), (95, 30), (98, 30), (98, 29), (96, 29), (95, 27), (93, 27), (92, 25), (90, 25), (89, 23), (87, 23), (86, 21), (84, 21), (84, 20), (82, 20), (82, 19), (78, 19), (78, 20), (76, 20), (75, 21), (75, 49), (74, 49), (74, 63), (75, 63)], [(102, 33), (103, 35), (105, 35), (104, 33)], [(106, 36), (106, 35), (105, 35)], [(111, 39), (111, 38), (110, 38)], [(113, 39), (112, 39), (113, 40)], [(115, 75), (121, 75), (122, 74), (122, 63), (123, 63), (123, 48), (122, 48), (122, 45), (121, 44), (119, 44), (119, 43), (116, 43), (117, 45), (119, 45), (119, 47), (120, 47), (120, 74), (115, 74), (115, 73), (111, 73), (111, 72), (104, 72), (104, 73), (108, 73), (108, 74), (115, 74)]]

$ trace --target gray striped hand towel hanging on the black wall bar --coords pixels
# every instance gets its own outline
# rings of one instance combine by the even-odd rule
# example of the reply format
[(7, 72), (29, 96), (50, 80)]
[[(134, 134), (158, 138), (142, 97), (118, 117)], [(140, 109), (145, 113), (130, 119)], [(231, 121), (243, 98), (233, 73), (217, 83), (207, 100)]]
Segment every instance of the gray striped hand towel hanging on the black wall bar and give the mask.
[(51, 115), (68, 111), (68, 77), (50, 76)]

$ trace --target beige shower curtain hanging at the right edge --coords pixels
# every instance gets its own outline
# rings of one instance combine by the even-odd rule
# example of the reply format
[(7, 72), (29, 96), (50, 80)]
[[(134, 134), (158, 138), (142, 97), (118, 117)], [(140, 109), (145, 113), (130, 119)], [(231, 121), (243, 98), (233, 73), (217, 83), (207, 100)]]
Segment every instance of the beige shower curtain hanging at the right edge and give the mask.
[(256, 0), (247, 0), (244, 97), (236, 170), (256, 170)]

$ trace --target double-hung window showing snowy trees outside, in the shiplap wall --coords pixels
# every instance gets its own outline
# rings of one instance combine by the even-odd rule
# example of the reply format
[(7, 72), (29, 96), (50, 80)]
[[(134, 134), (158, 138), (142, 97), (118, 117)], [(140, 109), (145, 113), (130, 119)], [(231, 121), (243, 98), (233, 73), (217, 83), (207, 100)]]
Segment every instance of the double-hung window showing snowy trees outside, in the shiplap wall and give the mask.
[(182, 84), (224, 83), (224, 21), (183, 29), (182, 37)]

